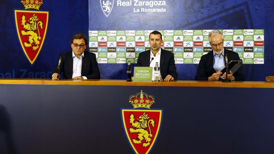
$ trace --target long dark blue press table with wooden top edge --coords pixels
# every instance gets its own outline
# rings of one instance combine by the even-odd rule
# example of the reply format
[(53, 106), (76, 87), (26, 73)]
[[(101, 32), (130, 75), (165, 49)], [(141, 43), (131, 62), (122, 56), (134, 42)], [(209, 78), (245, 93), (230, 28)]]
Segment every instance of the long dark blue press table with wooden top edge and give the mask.
[(274, 82), (0, 79), (0, 124), (10, 126), (0, 126), (0, 144), (28, 154), (133, 153), (121, 109), (133, 109), (129, 97), (140, 91), (154, 97), (151, 110), (163, 109), (150, 153), (274, 153)]

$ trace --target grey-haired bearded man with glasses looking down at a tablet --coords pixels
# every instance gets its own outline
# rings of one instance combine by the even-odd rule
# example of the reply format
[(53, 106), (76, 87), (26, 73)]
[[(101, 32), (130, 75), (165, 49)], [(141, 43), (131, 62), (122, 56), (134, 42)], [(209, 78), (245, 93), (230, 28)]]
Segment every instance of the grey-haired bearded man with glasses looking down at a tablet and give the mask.
[[(225, 66), (224, 54), (228, 55), (228, 62), (240, 60), (239, 54), (224, 49), (224, 35), (219, 30), (213, 30), (208, 34), (209, 43), (213, 49), (201, 57), (195, 80), (219, 81), (225, 80), (226, 73), (219, 72)], [(227, 79), (231, 81), (244, 81), (243, 68), (240, 67), (234, 74), (230, 71)]]

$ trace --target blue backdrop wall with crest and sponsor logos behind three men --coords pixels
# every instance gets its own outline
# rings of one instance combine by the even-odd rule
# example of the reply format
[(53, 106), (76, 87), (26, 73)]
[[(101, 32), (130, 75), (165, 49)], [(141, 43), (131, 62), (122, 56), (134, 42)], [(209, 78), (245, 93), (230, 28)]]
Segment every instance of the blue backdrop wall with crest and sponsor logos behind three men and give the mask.
[[(102, 79), (125, 79), (160, 30), (174, 52), (178, 80), (193, 80), (208, 48), (206, 33), (222, 30), (224, 46), (239, 53), (248, 81), (274, 75), (272, 1), (97, 0), (2, 1), (0, 78), (50, 78), (58, 55), (77, 32), (88, 36)], [(31, 25), (31, 26), (30, 26)], [(35, 25), (35, 26), (34, 26)], [(186, 34), (185, 34), (186, 33)], [(264, 39), (264, 37), (266, 39)], [(239, 45), (239, 46), (238, 46)]]

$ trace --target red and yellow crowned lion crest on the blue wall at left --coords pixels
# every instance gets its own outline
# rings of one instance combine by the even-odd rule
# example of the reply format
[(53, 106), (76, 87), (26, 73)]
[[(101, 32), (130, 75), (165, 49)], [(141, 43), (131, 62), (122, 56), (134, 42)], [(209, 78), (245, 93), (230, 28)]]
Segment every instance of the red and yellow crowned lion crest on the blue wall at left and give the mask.
[(26, 58), (33, 64), (43, 46), (48, 27), (49, 12), (39, 10), (43, 0), (21, 0), (25, 10), (14, 10), (17, 34)]

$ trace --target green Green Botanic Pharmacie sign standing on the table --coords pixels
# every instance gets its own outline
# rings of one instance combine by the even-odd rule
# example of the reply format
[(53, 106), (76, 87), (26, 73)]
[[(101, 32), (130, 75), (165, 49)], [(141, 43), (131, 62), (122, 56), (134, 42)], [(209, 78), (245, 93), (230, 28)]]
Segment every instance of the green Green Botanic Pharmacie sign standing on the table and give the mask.
[(152, 67), (134, 67), (134, 82), (152, 81)]

